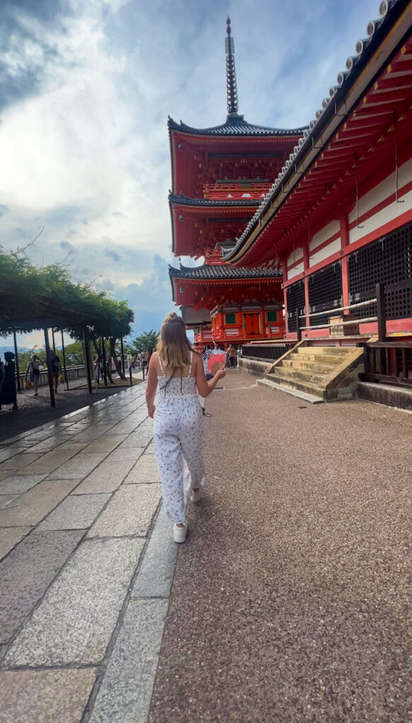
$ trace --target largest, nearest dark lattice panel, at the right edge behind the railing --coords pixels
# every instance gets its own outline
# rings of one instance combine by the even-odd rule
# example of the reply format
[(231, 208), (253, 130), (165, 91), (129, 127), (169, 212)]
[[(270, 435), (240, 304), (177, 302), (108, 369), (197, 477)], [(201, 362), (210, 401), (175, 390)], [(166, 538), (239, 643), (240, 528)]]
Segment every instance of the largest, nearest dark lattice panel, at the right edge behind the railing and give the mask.
[[(395, 284), (412, 279), (412, 223), (353, 252), (348, 257), (349, 303), (367, 301), (376, 296), (377, 283)], [(385, 294), (387, 319), (412, 316), (412, 288), (390, 290)], [(372, 304), (356, 309), (361, 318), (376, 316)]]

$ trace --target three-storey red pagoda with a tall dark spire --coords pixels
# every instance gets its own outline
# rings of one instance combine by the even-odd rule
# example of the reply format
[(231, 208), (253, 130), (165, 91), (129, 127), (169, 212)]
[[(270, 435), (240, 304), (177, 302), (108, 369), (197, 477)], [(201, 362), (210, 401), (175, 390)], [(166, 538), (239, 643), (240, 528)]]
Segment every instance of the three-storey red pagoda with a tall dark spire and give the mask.
[(227, 20), (227, 119), (191, 128), (169, 118), (172, 157), (172, 249), (176, 257), (203, 257), (196, 268), (170, 268), (173, 299), (182, 307), (198, 346), (212, 339), (226, 346), (283, 338), (282, 270), (230, 268), (223, 254), (266, 197), (304, 128), (249, 124), (238, 114), (235, 58)]

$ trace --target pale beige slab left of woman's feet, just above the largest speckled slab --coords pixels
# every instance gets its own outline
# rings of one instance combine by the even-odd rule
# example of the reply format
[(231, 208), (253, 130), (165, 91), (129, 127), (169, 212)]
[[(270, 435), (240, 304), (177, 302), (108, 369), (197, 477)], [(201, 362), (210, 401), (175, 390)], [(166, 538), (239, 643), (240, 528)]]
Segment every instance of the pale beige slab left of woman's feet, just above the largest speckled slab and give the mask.
[(160, 484), (127, 484), (120, 487), (88, 536), (146, 535), (160, 498)]

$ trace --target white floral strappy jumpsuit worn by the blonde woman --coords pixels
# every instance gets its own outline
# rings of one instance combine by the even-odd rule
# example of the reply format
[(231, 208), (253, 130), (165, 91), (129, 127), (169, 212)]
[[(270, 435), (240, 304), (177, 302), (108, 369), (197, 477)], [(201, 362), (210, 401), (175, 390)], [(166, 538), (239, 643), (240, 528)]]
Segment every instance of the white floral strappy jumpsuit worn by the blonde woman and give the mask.
[(203, 487), (203, 411), (191, 376), (193, 352), (187, 377), (166, 377), (160, 356), (161, 377), (154, 413), (154, 447), (166, 513), (176, 523), (186, 523), (184, 460), (190, 472), (188, 486)]

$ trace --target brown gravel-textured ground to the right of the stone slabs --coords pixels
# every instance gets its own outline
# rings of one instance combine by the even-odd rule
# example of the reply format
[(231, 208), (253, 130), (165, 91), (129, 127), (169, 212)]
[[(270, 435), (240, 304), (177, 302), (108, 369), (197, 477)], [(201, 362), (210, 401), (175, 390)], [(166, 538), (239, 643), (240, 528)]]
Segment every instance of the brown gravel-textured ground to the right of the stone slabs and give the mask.
[(206, 400), (149, 721), (412, 721), (412, 415), (254, 381)]

